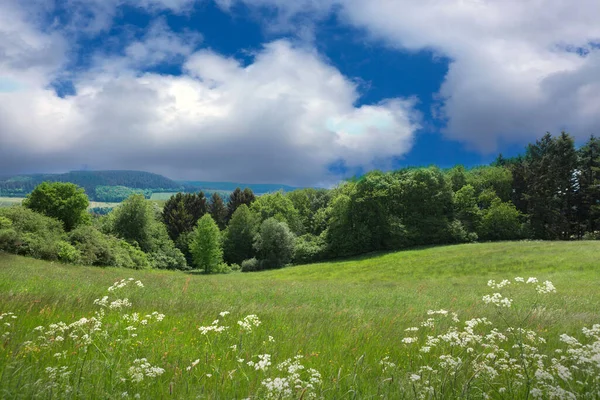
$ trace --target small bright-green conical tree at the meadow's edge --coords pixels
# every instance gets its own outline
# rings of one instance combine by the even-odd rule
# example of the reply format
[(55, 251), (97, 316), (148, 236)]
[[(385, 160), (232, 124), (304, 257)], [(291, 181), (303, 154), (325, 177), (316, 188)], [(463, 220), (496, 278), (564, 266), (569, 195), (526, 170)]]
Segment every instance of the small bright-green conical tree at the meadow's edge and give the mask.
[(190, 250), (195, 266), (204, 269), (207, 274), (215, 272), (223, 263), (221, 231), (210, 214), (198, 220)]

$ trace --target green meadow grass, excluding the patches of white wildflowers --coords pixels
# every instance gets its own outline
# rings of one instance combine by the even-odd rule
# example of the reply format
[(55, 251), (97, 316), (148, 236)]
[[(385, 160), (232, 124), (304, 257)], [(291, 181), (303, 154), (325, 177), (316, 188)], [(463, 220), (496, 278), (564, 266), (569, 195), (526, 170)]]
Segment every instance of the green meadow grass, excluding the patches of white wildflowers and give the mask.
[[(496, 310), (481, 301), (490, 293), (488, 279), (537, 276), (551, 280), (558, 293), (544, 299), (543, 307), (527, 319), (528, 326), (549, 338), (563, 332), (575, 335), (581, 327), (600, 322), (598, 254), (600, 242), (469, 244), (204, 276), (61, 265), (0, 253), (0, 314), (18, 316), (0, 347), (0, 398), (115, 398), (121, 392), (155, 398), (243, 398), (253, 393), (264, 397), (261, 380), (270, 373), (248, 371), (236, 362), (257, 354), (270, 354), (273, 366), (303, 355), (306, 367), (322, 374), (320, 394), (326, 398), (410, 397), (399, 385), (412, 363), (401, 340), (406, 328), (427, 318), (428, 310), (456, 311), (461, 320), (493, 319)], [(140, 327), (139, 339), (103, 342), (102, 351), (90, 351), (85, 366), (80, 364), (81, 353), (73, 352), (61, 363), (53, 358), (55, 350), (45, 351), (43, 346), (23, 351), (21, 344), (36, 337), (35, 327), (92, 316), (98, 309), (94, 299), (108, 294), (106, 289), (116, 280), (128, 277), (145, 285), (130, 294), (133, 310), (166, 314), (162, 322)], [(535, 299), (534, 294), (525, 294), (520, 301)], [(220, 318), (219, 312), (225, 310), (231, 314)], [(258, 315), (262, 324), (243, 335), (236, 321), (248, 314)], [(106, 326), (117, 329), (118, 318), (107, 316)], [(216, 318), (231, 326), (230, 336), (200, 334), (198, 327)], [(228, 350), (232, 344), (243, 346)], [(547, 350), (557, 345), (551, 339)], [(385, 356), (398, 364), (393, 380), (398, 384), (383, 379), (379, 362)], [(132, 382), (128, 368), (141, 357), (165, 373)], [(199, 364), (187, 372), (196, 359)], [(76, 388), (70, 378), (70, 392), (58, 386), (49, 392), (42, 384), (48, 374), (40, 365), (79, 370)], [(36, 381), (42, 383), (36, 386)]]

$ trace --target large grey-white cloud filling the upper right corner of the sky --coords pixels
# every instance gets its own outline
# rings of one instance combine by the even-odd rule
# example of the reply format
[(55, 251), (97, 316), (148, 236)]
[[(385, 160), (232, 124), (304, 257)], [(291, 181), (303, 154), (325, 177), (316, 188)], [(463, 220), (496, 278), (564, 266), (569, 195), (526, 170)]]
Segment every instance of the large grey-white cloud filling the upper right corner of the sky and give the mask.
[(373, 40), (450, 59), (440, 88), (446, 134), (483, 151), (545, 131), (600, 132), (597, 0), (239, 0), (278, 23), (331, 12)]

